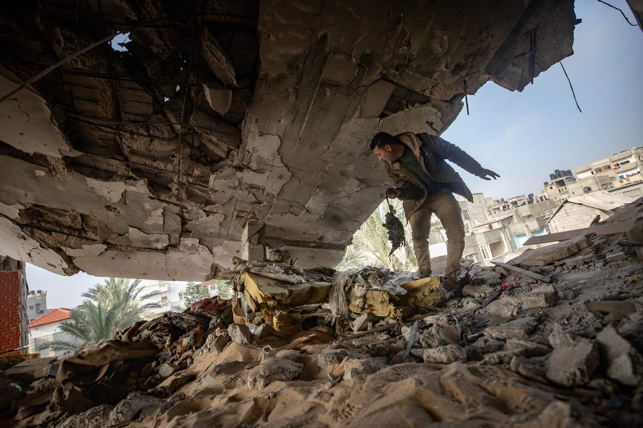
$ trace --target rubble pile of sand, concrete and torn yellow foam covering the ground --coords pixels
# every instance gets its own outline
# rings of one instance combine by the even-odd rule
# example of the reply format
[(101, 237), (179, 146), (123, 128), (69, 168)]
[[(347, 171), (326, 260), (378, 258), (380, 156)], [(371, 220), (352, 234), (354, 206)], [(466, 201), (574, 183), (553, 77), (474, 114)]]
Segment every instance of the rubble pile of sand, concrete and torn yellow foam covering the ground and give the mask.
[(453, 291), (409, 272), (239, 262), (227, 305), (4, 371), (0, 411), (20, 427), (641, 426), (635, 240), (474, 265)]

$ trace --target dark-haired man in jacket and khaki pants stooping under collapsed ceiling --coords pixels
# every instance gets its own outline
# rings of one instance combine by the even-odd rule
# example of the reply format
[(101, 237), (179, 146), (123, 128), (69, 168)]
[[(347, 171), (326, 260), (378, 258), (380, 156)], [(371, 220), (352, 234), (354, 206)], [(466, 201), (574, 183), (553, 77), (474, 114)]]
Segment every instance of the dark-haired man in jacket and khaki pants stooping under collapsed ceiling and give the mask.
[(386, 196), (404, 201), (404, 215), (411, 224), (413, 249), (421, 276), (431, 275), (428, 244), (431, 214), (435, 213), (442, 222), (447, 236), (443, 285), (445, 289), (454, 289), (464, 251), (464, 223), (453, 193), (471, 202), (473, 195), (445, 159), (485, 180), (495, 180), (500, 175), (482, 168), (461, 148), (426, 133), (404, 132), (392, 136), (379, 132), (373, 137), (370, 150), (380, 161), (386, 162), (386, 172), (394, 182), (395, 187), (388, 188)]

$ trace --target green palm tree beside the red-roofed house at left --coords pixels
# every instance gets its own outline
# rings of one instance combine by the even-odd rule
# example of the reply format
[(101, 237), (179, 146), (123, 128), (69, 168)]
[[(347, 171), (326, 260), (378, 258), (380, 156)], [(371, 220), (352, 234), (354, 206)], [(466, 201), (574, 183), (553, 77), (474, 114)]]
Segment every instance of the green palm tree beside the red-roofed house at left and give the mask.
[(85, 301), (71, 310), (71, 321), (60, 323), (60, 330), (73, 339), (53, 340), (39, 344), (37, 350), (76, 350), (88, 343), (110, 339), (121, 330), (141, 319), (146, 308), (158, 307), (156, 303), (141, 305), (141, 300), (154, 293), (139, 296), (141, 280), (130, 282), (125, 278), (109, 278), (82, 294)]

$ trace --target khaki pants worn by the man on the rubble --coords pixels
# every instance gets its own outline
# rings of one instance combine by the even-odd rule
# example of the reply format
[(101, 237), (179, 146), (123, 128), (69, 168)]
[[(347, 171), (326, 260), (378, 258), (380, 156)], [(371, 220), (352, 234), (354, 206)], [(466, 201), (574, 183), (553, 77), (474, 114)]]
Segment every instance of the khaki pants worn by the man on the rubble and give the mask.
[(409, 218), (413, 236), (413, 249), (417, 258), (420, 274), (431, 274), (431, 256), (429, 255), (429, 233), (431, 231), (431, 214), (435, 213), (442, 222), (447, 237), (447, 256), (444, 274), (460, 271), (460, 258), (464, 251), (464, 223), (460, 205), (449, 190), (431, 193), (420, 208)]

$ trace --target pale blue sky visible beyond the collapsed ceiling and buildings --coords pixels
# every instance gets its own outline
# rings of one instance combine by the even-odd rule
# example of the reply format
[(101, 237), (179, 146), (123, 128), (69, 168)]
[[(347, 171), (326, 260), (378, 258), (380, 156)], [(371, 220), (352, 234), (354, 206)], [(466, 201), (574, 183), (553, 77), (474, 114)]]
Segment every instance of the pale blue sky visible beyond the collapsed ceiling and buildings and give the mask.
[[(625, 0), (610, 3), (634, 21)], [(473, 192), (505, 198), (536, 192), (555, 169), (643, 145), (643, 32), (598, 1), (576, 0), (576, 15), (583, 22), (574, 31), (574, 55), (563, 64), (582, 114), (556, 64), (522, 93), (488, 82), (469, 96), (471, 115), (463, 109), (442, 135), (502, 176), (489, 182), (462, 172)], [(50, 308), (75, 307), (82, 292), (102, 282), (33, 265), (27, 266), (27, 280), (32, 290), (48, 290)]]

